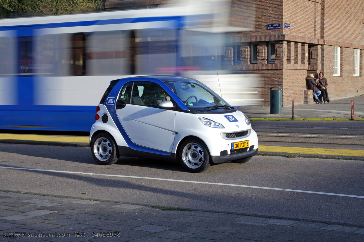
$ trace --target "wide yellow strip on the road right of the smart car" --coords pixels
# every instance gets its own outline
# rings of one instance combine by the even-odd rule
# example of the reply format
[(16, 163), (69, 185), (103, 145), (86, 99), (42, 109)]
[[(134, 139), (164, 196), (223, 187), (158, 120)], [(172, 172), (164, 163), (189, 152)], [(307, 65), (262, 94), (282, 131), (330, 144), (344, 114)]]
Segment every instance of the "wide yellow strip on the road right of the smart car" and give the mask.
[(325, 148), (304, 148), (304, 147), (285, 147), (285, 146), (267, 146), (259, 145), (259, 151), (295, 153), (295, 154), (312, 154), (312, 155), (341, 155), (341, 156), (362, 156), (364, 151), (356, 149), (325, 149)]

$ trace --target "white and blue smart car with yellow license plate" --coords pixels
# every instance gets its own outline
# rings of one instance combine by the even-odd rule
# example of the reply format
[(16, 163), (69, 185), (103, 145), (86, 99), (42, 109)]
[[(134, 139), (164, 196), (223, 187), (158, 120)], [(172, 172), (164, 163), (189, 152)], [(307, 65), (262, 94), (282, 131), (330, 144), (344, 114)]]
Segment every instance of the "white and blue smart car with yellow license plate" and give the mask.
[(258, 152), (248, 117), (195, 79), (144, 76), (110, 82), (90, 132), (101, 165), (119, 156), (179, 159), (188, 171), (245, 163)]

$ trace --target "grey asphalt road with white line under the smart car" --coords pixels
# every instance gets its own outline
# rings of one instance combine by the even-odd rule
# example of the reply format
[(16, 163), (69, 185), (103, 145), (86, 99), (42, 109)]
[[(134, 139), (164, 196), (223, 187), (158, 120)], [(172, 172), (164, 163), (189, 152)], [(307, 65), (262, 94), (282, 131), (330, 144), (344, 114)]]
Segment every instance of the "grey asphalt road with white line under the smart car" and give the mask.
[(363, 161), (256, 156), (194, 174), (128, 157), (100, 166), (86, 147), (1, 144), (0, 166), (1, 190), (364, 226)]

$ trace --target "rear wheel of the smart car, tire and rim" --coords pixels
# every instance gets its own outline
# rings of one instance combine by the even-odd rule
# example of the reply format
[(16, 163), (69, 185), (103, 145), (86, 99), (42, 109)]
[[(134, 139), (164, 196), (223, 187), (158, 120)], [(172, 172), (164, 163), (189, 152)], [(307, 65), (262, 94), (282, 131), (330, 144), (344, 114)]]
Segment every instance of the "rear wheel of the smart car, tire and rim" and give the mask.
[(111, 135), (100, 133), (95, 136), (91, 144), (91, 153), (100, 165), (112, 165), (119, 159), (119, 152)]

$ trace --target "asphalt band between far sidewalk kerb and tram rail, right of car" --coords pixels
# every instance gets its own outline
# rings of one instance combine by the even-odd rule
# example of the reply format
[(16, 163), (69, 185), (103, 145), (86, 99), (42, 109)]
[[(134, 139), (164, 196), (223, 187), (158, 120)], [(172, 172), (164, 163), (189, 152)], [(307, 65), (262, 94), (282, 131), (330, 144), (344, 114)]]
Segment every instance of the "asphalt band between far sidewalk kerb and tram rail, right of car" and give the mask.
[(256, 132), (300, 134), (362, 135), (362, 121), (252, 121)]

